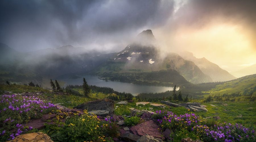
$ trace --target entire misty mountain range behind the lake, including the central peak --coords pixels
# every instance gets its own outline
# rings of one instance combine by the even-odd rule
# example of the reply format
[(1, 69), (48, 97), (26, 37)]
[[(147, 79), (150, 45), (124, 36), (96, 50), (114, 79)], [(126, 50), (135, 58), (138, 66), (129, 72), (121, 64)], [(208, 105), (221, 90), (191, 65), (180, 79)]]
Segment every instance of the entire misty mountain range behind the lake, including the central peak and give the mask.
[(226, 70), (192, 53), (165, 53), (151, 30), (118, 53), (87, 51), (72, 45), (21, 53), (1, 43), (0, 82), (44, 82), (44, 78), (92, 74), (123, 82), (189, 86), (236, 79)]

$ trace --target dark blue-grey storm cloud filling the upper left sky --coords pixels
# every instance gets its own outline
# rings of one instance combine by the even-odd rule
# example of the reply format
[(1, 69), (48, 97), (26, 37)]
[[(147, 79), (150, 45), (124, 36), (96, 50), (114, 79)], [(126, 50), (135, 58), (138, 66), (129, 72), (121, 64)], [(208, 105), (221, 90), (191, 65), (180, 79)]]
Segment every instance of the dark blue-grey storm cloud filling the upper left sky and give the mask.
[(20, 51), (117, 46), (138, 30), (163, 25), (172, 11), (172, 1), (2, 0), (0, 42)]

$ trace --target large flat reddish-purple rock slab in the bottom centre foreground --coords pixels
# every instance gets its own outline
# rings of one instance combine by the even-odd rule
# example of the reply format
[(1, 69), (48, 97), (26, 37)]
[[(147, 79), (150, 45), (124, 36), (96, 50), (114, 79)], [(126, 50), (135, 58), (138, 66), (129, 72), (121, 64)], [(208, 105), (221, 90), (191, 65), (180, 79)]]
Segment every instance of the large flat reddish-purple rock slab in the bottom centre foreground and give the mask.
[(160, 129), (160, 127), (157, 124), (155, 124), (152, 120), (149, 120), (141, 124), (137, 124), (136, 126), (132, 126), (130, 128), (130, 131), (133, 134), (139, 135), (139, 136), (148, 134), (153, 137), (162, 138), (161, 137), (162, 134), (158, 131), (158, 128)]

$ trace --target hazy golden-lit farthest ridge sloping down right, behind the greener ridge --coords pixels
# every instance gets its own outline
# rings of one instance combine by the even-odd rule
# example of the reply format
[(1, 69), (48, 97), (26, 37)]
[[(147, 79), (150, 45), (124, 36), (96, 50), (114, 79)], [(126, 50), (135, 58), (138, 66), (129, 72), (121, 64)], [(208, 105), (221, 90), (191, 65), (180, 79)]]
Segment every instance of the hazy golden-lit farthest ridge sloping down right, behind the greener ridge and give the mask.
[(185, 60), (194, 62), (204, 74), (207, 74), (212, 78), (213, 82), (223, 82), (236, 79), (236, 77), (232, 76), (229, 72), (223, 70), (217, 64), (214, 64), (205, 58), (198, 59), (190, 52), (182, 52), (179, 53), (179, 55)]

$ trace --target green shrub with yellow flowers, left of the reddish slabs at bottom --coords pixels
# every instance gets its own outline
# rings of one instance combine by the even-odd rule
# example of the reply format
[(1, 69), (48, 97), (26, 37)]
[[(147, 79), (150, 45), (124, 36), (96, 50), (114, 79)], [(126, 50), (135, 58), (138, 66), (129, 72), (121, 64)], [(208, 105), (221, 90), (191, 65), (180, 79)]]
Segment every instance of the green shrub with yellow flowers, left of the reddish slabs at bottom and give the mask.
[(79, 116), (67, 117), (65, 123), (59, 125), (59, 121), (54, 124), (46, 124), (47, 133), (53, 141), (113, 141), (108, 136), (118, 137), (118, 126), (111, 120), (100, 121), (96, 115), (89, 115), (86, 111)]

